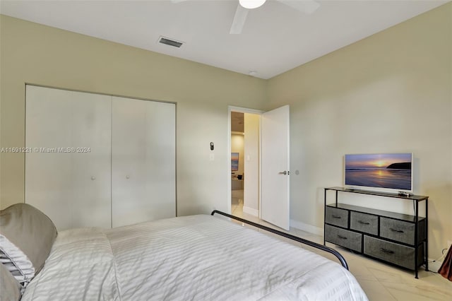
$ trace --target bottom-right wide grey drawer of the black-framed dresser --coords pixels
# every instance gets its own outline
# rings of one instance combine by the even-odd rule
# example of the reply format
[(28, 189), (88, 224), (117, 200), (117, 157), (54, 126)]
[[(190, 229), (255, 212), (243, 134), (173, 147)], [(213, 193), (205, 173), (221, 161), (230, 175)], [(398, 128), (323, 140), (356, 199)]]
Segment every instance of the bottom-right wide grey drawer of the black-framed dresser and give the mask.
[[(364, 235), (364, 254), (382, 259), (384, 261), (415, 270), (415, 248), (406, 247), (394, 242), (386, 242), (375, 237)], [(423, 244), (417, 248), (418, 266), (423, 264)]]

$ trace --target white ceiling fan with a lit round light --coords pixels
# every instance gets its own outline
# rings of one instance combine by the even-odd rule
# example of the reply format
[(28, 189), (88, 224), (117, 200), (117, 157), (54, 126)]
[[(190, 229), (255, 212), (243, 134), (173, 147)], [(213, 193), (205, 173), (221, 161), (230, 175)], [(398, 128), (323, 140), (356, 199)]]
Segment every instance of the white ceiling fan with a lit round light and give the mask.
[[(171, 0), (173, 3), (179, 3), (189, 0)], [(301, 11), (302, 13), (311, 14), (319, 8), (320, 4), (314, 0), (276, 0), (282, 4), (290, 6)], [(248, 16), (249, 10), (258, 8), (266, 3), (266, 0), (239, 0), (237, 10), (235, 11), (234, 20), (230, 29), (230, 34), (237, 35), (242, 33), (242, 29), (245, 25), (246, 16)]]

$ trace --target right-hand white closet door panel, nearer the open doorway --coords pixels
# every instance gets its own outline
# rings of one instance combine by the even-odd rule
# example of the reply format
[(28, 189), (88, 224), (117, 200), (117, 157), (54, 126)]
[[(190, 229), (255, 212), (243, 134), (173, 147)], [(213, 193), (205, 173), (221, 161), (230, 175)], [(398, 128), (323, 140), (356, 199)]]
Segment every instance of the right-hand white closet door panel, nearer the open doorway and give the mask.
[(175, 107), (113, 97), (113, 227), (176, 215)]

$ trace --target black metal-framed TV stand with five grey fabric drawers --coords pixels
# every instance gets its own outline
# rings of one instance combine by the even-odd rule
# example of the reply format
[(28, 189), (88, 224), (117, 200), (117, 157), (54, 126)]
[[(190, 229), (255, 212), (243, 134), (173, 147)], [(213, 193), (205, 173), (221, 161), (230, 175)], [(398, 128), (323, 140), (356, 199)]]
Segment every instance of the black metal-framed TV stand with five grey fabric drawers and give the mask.
[[(335, 202), (327, 203), (327, 191), (335, 191)], [(339, 193), (367, 194), (410, 200), (415, 215), (382, 211), (338, 203)], [(364, 256), (386, 261), (417, 272), (428, 266), (428, 196), (391, 194), (343, 187), (325, 188), (325, 223), (323, 244), (331, 242)], [(419, 216), (419, 203), (424, 201), (425, 217)]]

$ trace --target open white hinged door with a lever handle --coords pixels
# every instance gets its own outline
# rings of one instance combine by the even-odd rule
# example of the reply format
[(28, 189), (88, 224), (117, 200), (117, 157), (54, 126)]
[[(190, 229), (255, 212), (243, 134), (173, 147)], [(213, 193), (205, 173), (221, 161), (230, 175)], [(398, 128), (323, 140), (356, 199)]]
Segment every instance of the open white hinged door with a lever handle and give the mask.
[(290, 228), (289, 106), (261, 115), (261, 218)]

